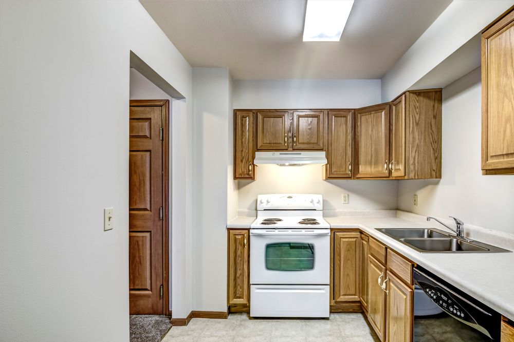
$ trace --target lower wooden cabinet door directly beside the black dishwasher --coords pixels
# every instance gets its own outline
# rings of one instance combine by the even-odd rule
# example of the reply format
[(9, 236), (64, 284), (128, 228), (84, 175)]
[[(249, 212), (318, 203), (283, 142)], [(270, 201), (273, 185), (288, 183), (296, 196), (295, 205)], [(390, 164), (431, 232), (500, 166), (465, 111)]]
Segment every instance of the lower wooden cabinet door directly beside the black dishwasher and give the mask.
[(388, 272), (386, 282), (387, 315), (386, 332), (387, 342), (412, 341), (412, 320), (414, 290)]

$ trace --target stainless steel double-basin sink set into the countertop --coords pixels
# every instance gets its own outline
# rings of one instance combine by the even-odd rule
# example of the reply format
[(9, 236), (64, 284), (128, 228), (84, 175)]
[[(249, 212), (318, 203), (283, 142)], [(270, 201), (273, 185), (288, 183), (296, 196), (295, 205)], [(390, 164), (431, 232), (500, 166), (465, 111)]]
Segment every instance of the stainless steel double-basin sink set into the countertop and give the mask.
[(381, 228), (382, 232), (421, 253), (501, 253), (510, 252), (479, 241), (458, 239), (451, 233), (425, 228)]

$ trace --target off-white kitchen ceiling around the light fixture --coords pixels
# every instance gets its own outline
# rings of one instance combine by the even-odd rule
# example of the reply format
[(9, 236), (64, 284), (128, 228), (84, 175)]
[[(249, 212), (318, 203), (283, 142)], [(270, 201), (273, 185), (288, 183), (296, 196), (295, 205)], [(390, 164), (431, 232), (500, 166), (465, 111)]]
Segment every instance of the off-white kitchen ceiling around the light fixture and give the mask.
[(451, 0), (356, 0), (339, 42), (302, 42), (306, 0), (140, 0), (193, 67), (241, 79), (379, 79)]

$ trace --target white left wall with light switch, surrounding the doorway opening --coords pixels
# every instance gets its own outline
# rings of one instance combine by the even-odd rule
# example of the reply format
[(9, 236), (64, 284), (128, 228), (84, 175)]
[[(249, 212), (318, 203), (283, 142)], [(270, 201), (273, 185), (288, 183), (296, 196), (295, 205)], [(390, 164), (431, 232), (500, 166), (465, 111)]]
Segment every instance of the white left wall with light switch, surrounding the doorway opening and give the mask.
[[(130, 50), (191, 99), (190, 66), (139, 2), (0, 2), (2, 341), (128, 340)], [(174, 315), (191, 310), (190, 128), (173, 156)]]

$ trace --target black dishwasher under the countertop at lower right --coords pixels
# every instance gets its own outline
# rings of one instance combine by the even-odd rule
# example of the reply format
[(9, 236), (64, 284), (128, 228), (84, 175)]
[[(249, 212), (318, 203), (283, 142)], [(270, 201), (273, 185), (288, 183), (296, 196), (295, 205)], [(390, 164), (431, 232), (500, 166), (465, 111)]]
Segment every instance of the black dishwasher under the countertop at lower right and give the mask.
[(500, 341), (501, 315), (429, 271), (415, 267), (414, 283), (443, 313), (414, 317), (414, 341)]

